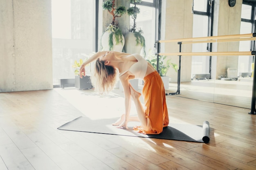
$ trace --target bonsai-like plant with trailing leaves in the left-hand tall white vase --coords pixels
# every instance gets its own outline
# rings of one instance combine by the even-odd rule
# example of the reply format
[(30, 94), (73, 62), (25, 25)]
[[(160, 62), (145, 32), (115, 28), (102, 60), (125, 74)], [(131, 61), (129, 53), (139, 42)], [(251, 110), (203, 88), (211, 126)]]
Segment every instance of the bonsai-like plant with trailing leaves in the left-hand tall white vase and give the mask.
[(110, 47), (110, 50), (113, 49), (113, 35), (115, 37), (116, 43), (123, 44), (122, 40), (122, 32), (118, 27), (118, 22), (116, 20), (117, 17), (121, 17), (126, 13), (126, 8), (124, 6), (119, 6), (115, 8), (115, 0), (106, 0), (102, 4), (102, 8), (105, 10), (108, 10), (108, 12), (112, 15), (112, 21), (111, 24), (108, 25), (106, 28), (106, 32), (110, 33), (109, 39), (108, 39), (108, 45)]

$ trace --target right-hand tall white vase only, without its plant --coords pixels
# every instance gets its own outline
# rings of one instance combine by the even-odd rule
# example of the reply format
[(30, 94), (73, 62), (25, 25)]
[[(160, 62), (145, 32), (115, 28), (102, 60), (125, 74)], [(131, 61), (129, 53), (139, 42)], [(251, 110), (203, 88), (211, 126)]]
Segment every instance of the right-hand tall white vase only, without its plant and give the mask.
[(124, 51), (130, 54), (140, 54), (142, 46), (136, 45), (136, 38), (134, 33), (126, 33), (124, 35), (125, 44), (124, 44)]

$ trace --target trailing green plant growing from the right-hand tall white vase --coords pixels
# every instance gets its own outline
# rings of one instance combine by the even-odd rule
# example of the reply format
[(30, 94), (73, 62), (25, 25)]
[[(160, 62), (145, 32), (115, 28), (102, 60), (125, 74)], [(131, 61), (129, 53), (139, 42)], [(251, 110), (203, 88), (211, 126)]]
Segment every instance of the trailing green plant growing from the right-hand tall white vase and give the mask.
[(142, 35), (143, 31), (141, 29), (139, 29), (139, 31), (136, 30), (137, 29), (137, 24), (136, 24), (137, 14), (140, 13), (140, 9), (138, 7), (136, 7), (136, 5), (141, 3), (141, 0), (130, 0), (130, 3), (133, 4), (133, 6), (129, 7), (127, 9), (127, 13), (128, 13), (128, 15), (130, 15), (132, 17), (133, 25), (130, 26), (130, 29), (128, 32), (134, 33), (134, 36), (136, 38), (136, 46), (141, 45), (142, 48), (144, 49), (144, 55), (146, 55), (145, 38)]

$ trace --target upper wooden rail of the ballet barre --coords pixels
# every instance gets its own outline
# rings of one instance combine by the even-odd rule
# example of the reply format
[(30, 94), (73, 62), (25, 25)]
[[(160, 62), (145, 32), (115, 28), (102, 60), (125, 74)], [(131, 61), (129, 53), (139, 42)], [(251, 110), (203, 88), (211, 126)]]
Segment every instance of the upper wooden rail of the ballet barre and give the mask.
[(156, 43), (162, 42), (187, 42), (187, 41), (197, 41), (197, 40), (221, 40), (221, 39), (234, 39), (234, 38), (252, 38), (256, 37), (256, 33), (249, 34), (236, 34), (236, 35), (219, 35), (219, 36), (210, 36), (210, 37), (196, 37), (196, 38), (180, 38), (173, 40), (157, 40)]

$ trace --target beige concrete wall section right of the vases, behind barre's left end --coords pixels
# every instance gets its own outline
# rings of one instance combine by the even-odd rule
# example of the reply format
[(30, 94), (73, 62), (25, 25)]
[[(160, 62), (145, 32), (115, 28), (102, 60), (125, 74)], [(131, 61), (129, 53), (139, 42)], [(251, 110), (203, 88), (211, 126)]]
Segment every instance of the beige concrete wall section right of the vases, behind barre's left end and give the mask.
[[(193, 0), (163, 0), (162, 1), (162, 26), (161, 39), (171, 40), (177, 38), (191, 38), (193, 28)], [(182, 45), (182, 52), (191, 52), (192, 45)], [(179, 52), (179, 45), (175, 43), (163, 43), (161, 52)], [(171, 62), (179, 65), (179, 57), (168, 56)], [(181, 81), (191, 81), (191, 56), (184, 56), (181, 60)], [(170, 68), (167, 75), (172, 82), (177, 82), (177, 73)]]

